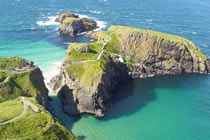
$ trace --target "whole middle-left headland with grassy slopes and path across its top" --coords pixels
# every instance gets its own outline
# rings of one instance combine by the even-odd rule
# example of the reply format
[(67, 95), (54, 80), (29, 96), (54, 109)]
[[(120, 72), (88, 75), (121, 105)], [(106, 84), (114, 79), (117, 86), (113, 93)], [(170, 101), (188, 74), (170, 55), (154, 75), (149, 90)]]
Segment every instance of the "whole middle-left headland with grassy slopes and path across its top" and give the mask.
[(42, 72), (33, 62), (20, 57), (0, 58), (0, 102), (18, 96), (35, 97), (46, 106), (49, 97)]

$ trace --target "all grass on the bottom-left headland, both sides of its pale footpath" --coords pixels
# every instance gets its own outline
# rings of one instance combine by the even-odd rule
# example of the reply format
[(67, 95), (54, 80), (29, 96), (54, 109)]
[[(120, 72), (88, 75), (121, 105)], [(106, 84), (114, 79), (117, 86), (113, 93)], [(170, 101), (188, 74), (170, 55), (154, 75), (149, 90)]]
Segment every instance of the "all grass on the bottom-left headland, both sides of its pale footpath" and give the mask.
[(0, 103), (0, 139), (76, 140), (74, 135), (39, 105), (35, 98), (26, 99), (38, 107), (40, 112), (34, 112), (28, 106), (22, 117), (7, 124), (1, 123), (20, 115), (23, 104), (21, 98)]

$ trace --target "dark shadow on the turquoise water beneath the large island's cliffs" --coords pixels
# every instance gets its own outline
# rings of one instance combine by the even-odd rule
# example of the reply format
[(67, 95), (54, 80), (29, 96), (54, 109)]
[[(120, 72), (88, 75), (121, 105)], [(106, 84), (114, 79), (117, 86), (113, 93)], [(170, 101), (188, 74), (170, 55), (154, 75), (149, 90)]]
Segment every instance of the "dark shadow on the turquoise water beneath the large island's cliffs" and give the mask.
[(140, 111), (158, 99), (155, 93), (157, 88), (201, 88), (210, 86), (209, 80), (210, 76), (206, 75), (178, 75), (122, 82), (113, 91), (113, 106), (105, 112), (105, 117), (99, 120), (117, 119)]

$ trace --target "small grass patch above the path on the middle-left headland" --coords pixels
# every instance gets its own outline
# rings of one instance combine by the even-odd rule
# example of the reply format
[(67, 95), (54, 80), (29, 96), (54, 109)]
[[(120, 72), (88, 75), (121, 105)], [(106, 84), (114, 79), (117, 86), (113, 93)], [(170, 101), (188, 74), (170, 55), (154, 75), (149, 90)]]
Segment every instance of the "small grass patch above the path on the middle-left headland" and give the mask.
[(21, 66), (23, 61), (20, 57), (0, 58), (0, 69), (14, 69)]

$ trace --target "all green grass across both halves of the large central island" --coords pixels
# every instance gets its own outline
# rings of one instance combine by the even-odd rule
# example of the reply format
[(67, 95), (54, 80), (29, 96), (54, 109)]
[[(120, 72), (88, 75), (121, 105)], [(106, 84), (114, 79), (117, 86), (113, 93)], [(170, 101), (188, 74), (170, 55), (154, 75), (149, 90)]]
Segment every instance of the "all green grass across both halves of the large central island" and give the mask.
[[(132, 57), (127, 56), (125, 52), (123, 52), (123, 49), (120, 49), (121, 47), (123, 47), (122, 43), (125, 44), (131, 43), (127, 44), (126, 47), (132, 47), (136, 45), (135, 49), (130, 48), (130, 53), (132, 53), (132, 55), (134, 56), (138, 55), (141, 59), (146, 59), (145, 55), (141, 55), (142, 48), (147, 47), (147, 48), (162, 49), (161, 47), (153, 45), (153, 41), (160, 41), (160, 40), (166, 40), (169, 41), (169, 43), (171, 42), (172, 44), (176, 42), (178, 43), (179, 46), (188, 49), (189, 53), (192, 56), (198, 56), (200, 60), (207, 59), (207, 57), (202, 54), (200, 49), (197, 48), (191, 41), (180, 36), (164, 34), (151, 30), (137, 29), (132, 27), (124, 27), (124, 26), (111, 26), (108, 31), (93, 33), (93, 37), (98, 38), (98, 42), (89, 43), (89, 44), (85, 43), (71, 44), (67, 49), (67, 57), (65, 58), (65, 61), (77, 61), (77, 63), (75, 64), (66, 66), (65, 70), (69, 75), (79, 78), (82, 84), (86, 85), (86, 87), (91, 87), (91, 86), (97, 87), (96, 85), (100, 82), (102, 74), (109, 69), (111, 54), (120, 55), (124, 59), (123, 63), (126, 65), (132, 65), (135, 63), (135, 60), (133, 60)], [(126, 39), (128, 39), (129, 37), (131, 38), (133, 37), (132, 40), (134, 41), (126, 42)], [(140, 37), (141, 42), (138, 41), (138, 37)], [(144, 40), (144, 37), (147, 39)], [(100, 42), (104, 42), (104, 40), (109, 40), (109, 41), (106, 44), (104, 44), (105, 46), (100, 60), (85, 62), (84, 60), (94, 60), (98, 56), (102, 48), (101, 46), (103, 46), (103, 44)], [(83, 46), (83, 45), (90, 46), (89, 53), (80, 53), (76, 51), (75, 49), (76, 46)], [(138, 47), (139, 45), (143, 47)], [(83, 62), (79, 63), (80, 61)]]

